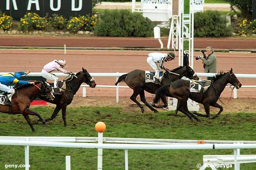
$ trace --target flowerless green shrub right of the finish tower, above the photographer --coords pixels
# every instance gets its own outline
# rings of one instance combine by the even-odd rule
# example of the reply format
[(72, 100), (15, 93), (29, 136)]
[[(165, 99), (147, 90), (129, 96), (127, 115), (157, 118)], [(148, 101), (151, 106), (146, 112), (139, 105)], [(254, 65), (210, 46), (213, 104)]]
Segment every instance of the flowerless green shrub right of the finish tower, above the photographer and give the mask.
[(226, 26), (226, 18), (219, 11), (204, 11), (195, 13), (195, 37), (227, 37), (232, 33), (232, 27)]

